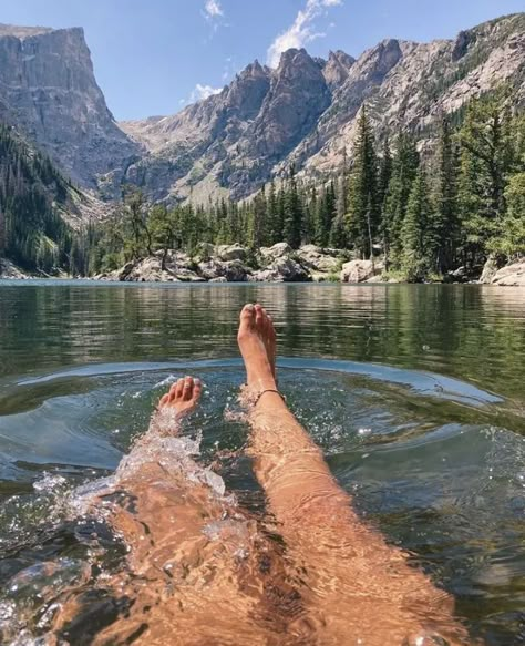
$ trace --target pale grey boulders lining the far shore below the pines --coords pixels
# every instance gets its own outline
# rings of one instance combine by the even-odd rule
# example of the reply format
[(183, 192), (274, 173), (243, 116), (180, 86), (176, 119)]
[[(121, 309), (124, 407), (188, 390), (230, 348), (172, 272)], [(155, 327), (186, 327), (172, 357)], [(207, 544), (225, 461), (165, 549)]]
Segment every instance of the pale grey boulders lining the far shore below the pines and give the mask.
[[(257, 254), (240, 245), (200, 244), (192, 256), (168, 249), (131, 260), (120, 269), (99, 274), (91, 280), (120, 283), (403, 283), (384, 277), (380, 258), (350, 259), (342, 249), (305, 245), (291, 249), (286, 243), (262, 247)], [(48, 277), (48, 276), (47, 276)], [(71, 278), (60, 276), (61, 278)], [(0, 260), (0, 278), (31, 279), (9, 260)], [(56, 277), (49, 277), (56, 278)], [(525, 258), (498, 268), (488, 258), (480, 279), (452, 271), (444, 283), (474, 283), (502, 287), (525, 287)]]

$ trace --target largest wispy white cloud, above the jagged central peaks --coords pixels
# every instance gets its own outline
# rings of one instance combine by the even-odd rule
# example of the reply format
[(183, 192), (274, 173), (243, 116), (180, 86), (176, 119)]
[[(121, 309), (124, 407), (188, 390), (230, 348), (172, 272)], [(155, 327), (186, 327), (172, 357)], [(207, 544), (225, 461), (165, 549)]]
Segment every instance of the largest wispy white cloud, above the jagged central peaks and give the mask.
[(307, 0), (305, 9), (301, 9), (292, 24), (279, 34), (268, 48), (268, 65), (277, 68), (280, 54), (291, 48), (300, 49), (307, 43), (323, 38), (325, 33), (315, 31), (315, 20), (331, 7), (339, 7), (342, 0)]

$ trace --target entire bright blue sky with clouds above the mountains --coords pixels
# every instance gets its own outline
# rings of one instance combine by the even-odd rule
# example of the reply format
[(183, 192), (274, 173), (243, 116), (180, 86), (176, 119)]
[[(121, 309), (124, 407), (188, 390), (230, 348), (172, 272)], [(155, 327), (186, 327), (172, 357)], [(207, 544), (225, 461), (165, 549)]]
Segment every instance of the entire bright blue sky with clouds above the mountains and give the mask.
[(523, 0), (3, 0), (0, 22), (83, 27), (123, 120), (177, 112), (256, 58), (276, 64), (288, 47), (357, 57), (384, 38), (453, 38), (523, 10)]

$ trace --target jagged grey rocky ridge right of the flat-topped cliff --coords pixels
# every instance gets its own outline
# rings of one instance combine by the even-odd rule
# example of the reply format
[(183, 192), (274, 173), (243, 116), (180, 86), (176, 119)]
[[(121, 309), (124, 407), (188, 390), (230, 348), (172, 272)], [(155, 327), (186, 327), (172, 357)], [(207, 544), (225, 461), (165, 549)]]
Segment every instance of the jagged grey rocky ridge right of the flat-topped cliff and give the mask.
[(525, 105), (525, 13), (455, 40), (385, 40), (358, 60), (341, 51), (325, 61), (289, 50), (277, 70), (256, 61), (220, 94), (174, 116), (121, 123), (147, 150), (125, 178), (154, 198), (203, 203), (245, 197), (291, 162), (322, 180), (351, 154), (364, 102), (379, 137), (404, 127), (424, 145), (442, 113), (502, 83), (511, 83), (515, 103)]

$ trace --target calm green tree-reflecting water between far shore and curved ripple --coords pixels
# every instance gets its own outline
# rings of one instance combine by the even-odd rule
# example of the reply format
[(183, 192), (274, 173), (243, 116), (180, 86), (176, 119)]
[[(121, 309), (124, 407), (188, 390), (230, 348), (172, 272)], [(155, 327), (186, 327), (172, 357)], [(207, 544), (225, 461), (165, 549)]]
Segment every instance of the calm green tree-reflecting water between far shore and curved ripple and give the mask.
[(418, 368), (521, 394), (525, 290), (478, 286), (21, 289), (0, 283), (0, 375), (94, 361), (233, 357), (247, 299), (275, 314), (284, 356)]

